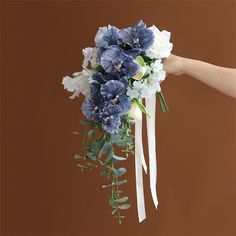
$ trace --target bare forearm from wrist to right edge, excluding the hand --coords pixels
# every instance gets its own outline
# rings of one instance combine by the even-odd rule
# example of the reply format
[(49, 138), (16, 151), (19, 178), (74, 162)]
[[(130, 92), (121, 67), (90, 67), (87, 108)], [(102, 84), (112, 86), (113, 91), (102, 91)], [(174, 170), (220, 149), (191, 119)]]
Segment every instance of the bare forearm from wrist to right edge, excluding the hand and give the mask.
[(182, 58), (181, 61), (183, 74), (236, 98), (236, 69), (215, 66), (188, 58)]

